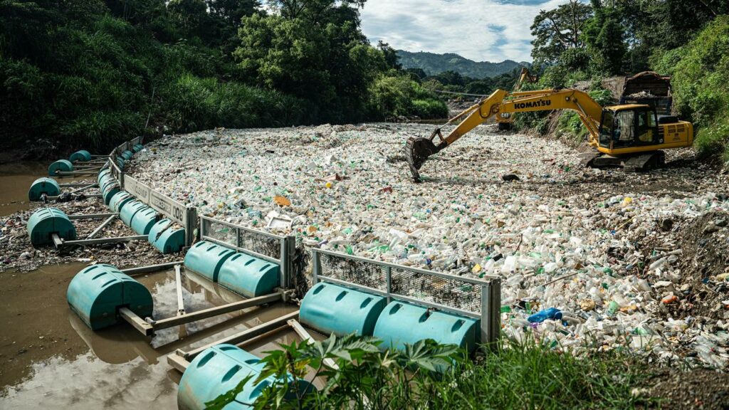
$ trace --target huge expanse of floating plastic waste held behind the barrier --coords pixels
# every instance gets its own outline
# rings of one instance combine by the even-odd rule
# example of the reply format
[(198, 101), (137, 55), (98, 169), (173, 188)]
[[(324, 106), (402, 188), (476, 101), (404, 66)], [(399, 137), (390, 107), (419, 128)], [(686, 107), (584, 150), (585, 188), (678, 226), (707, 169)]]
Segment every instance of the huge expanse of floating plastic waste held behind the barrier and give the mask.
[[(667, 152), (666, 169), (650, 174), (582, 169), (561, 142), (482, 126), (432, 157), (414, 184), (402, 150), (408, 136), (431, 130), (169, 136), (130, 172), (200, 214), (308, 247), (502, 276), (502, 325), (514, 339), (729, 365), (728, 175), (695, 163), (690, 150)], [(712, 260), (700, 240), (714, 244)]]

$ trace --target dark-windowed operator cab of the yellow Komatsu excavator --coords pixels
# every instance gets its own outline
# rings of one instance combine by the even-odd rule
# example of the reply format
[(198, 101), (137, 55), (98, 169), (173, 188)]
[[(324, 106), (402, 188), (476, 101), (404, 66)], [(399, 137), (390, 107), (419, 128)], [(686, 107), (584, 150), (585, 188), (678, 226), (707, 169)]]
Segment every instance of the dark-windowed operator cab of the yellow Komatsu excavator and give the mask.
[(606, 107), (600, 121), (599, 151), (663, 144), (658, 132), (658, 116), (647, 105), (630, 104)]

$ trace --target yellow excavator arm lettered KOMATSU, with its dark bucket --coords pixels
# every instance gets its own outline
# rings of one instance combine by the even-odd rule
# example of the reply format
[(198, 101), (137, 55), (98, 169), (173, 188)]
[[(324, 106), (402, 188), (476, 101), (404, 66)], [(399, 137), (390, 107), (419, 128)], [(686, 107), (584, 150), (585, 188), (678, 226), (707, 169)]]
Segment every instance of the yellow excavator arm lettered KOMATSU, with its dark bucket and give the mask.
[[(447, 136), (443, 136), (441, 132), (441, 129), (445, 126), (442, 125), (436, 128), (429, 138), (408, 139), (405, 146), (405, 157), (408, 159), (408, 166), (410, 166), (413, 179), (415, 179), (415, 182), (420, 182), (419, 170), (430, 155), (440, 152), (448, 145), (453, 144), (473, 128), (485, 123), (488, 118), (501, 112), (534, 112), (553, 109), (572, 109), (577, 112), (582, 123), (588, 128), (590, 144), (597, 145), (602, 107), (590, 98), (587, 93), (569, 89), (518, 91), (514, 93), (496, 90), (491, 96), (483, 98), (477, 104), (445, 123), (445, 125), (450, 125), (465, 117)], [(436, 136), (439, 138), (437, 142), (434, 141)]]

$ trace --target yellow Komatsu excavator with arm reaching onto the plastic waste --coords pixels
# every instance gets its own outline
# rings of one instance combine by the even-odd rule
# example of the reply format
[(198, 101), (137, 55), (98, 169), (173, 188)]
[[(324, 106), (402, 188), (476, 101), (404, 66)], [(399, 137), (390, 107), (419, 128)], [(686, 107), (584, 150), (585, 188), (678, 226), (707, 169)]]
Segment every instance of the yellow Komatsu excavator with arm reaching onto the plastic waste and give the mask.
[[(588, 142), (597, 152), (583, 156), (585, 166), (623, 166), (626, 170), (647, 171), (663, 166), (666, 155), (662, 150), (693, 144), (691, 123), (679, 121), (671, 115), (658, 116), (649, 105), (624, 104), (603, 108), (587, 93), (572, 89), (512, 93), (496, 90), (436, 128), (429, 138), (408, 139), (405, 157), (413, 179), (421, 181), (421, 166), (430, 155), (453, 144), (488, 118), (553, 109), (572, 109), (588, 129)], [(441, 129), (461, 118), (464, 120), (448, 136), (443, 136)], [(434, 141), (436, 136), (438, 140)]]

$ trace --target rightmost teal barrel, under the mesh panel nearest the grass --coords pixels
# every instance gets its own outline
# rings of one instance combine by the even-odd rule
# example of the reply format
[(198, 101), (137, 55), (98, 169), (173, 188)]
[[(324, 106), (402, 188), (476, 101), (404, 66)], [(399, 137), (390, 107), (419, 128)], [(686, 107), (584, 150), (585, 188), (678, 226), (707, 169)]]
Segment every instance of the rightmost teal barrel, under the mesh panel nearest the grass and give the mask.
[(392, 301), (377, 320), (374, 336), (383, 341), (383, 348), (404, 349), (405, 344), (433, 339), (440, 344), (456, 344), (473, 352), (479, 325), (480, 321), (471, 317), (428, 312), (422, 306)]

